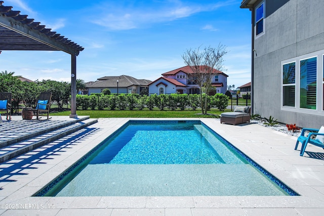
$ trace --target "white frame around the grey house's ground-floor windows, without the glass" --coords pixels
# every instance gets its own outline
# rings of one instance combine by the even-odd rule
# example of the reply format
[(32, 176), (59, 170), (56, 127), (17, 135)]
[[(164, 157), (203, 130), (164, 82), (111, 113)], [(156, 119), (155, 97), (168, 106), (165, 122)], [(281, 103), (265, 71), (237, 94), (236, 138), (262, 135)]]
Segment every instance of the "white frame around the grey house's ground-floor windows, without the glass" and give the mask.
[[(300, 62), (305, 59), (317, 58), (316, 62), (316, 109), (300, 108)], [(295, 107), (283, 106), (283, 65), (296, 62), (295, 64)], [(305, 114), (324, 114), (324, 50), (305, 54), (280, 62), (280, 110), (293, 111)]]

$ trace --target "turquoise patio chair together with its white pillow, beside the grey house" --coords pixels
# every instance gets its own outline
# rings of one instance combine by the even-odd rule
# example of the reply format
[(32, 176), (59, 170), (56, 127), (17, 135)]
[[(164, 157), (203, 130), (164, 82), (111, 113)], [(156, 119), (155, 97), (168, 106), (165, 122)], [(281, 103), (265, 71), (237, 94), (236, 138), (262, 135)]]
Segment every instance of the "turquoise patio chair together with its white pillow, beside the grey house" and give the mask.
[[(309, 132), (308, 136), (305, 136), (306, 131)], [(297, 150), (299, 142), (302, 144), (300, 156), (304, 155), (308, 143), (324, 149), (324, 126), (321, 126), (320, 129), (303, 128), (300, 136), (297, 139), (295, 150)]]

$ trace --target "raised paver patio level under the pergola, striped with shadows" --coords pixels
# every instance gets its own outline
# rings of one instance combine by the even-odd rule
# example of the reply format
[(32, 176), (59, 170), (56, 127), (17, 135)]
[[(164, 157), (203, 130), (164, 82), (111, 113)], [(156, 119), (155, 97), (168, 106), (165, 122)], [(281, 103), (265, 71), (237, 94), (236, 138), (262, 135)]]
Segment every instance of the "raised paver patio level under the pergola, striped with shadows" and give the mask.
[(68, 120), (20, 120), (3, 123), (0, 127), (0, 149), (86, 119), (89, 116)]

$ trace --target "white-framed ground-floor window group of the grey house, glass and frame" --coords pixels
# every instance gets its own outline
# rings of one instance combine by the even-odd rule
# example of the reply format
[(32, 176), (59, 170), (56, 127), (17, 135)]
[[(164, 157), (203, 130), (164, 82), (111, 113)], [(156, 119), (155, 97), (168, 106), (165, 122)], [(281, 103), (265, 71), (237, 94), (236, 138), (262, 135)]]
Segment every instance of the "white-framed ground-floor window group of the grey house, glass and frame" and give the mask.
[(324, 111), (324, 50), (282, 61), (280, 79), (281, 110)]

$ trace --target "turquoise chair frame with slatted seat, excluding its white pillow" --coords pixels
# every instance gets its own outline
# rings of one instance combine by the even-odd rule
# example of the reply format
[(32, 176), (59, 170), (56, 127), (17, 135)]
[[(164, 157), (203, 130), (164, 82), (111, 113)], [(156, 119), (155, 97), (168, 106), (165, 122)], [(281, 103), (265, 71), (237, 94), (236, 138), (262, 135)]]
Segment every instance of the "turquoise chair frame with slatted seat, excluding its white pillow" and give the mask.
[[(307, 137), (305, 137), (305, 132), (308, 131), (309, 134)], [(314, 146), (318, 146), (318, 147), (321, 147), (324, 149), (324, 144), (318, 140), (315, 140), (315, 139), (312, 139), (314, 136), (324, 136), (324, 134), (321, 134), (321, 133), (318, 133), (319, 129), (315, 129), (315, 128), (303, 128), (302, 129), (302, 133), (300, 134), (300, 136), (298, 137), (297, 139), (297, 143), (296, 143), (296, 146), (295, 146), (295, 150), (297, 150), (297, 147), (298, 147), (298, 144), (299, 142), (301, 142), (302, 144), (302, 148), (300, 150), (300, 156), (303, 156), (304, 155), (304, 152), (305, 152), (305, 149), (306, 149), (306, 146), (308, 143), (314, 145)], [(312, 137), (312, 135), (314, 135)]]

